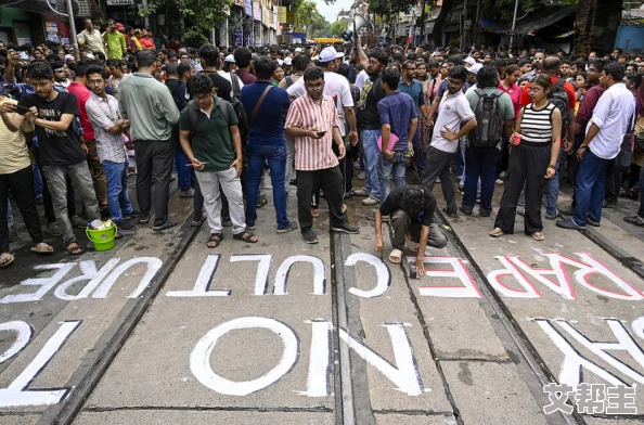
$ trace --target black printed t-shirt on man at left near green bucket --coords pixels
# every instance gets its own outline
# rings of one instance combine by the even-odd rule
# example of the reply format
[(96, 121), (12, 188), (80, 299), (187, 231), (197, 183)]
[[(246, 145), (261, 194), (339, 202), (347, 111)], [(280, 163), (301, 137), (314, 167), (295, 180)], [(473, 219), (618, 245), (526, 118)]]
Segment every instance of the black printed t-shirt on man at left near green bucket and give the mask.
[[(52, 101), (46, 101), (38, 94), (27, 94), (18, 101), (20, 106), (38, 110), (38, 118), (47, 121), (60, 121), (63, 114), (78, 115), (78, 102), (72, 93), (61, 93)], [(40, 163), (48, 165), (75, 165), (86, 160), (80, 149), (78, 134), (69, 125), (67, 130), (56, 131), (36, 126)]]

